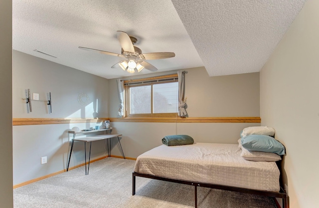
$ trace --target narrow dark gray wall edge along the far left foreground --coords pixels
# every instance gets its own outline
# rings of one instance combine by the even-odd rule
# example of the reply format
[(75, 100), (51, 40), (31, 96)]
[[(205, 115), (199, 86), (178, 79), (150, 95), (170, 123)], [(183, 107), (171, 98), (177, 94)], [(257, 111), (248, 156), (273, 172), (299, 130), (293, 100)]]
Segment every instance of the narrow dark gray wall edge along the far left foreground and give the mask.
[(0, 207), (12, 208), (12, 1), (0, 0)]

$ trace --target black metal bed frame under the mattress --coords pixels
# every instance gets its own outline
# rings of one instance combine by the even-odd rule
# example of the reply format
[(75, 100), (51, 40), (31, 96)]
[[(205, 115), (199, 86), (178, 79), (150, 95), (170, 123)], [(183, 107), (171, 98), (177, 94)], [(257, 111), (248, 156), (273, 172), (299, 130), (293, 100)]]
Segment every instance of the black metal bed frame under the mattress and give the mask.
[[(276, 163), (277, 163), (277, 166), (278, 166), (280, 173), (281, 173), (280, 163), (279, 162), (276, 162)], [(136, 190), (135, 189), (136, 176), (194, 186), (195, 208), (197, 208), (197, 187), (199, 187), (199, 186), (206, 187), (206, 188), (212, 188), (212, 189), (220, 189), (220, 190), (241, 192), (241, 193), (247, 193), (247, 194), (267, 196), (267, 197), (281, 198), (281, 199), (283, 199), (283, 208), (288, 208), (289, 197), (288, 197), (287, 193), (285, 192), (285, 190), (282, 188), (282, 180), (281, 179), (280, 179), (280, 192), (269, 192), (269, 191), (260, 191), (260, 190), (254, 190), (254, 189), (238, 188), (238, 187), (232, 187), (232, 186), (223, 186), (223, 185), (217, 185), (217, 184), (200, 183), (200, 182), (195, 182), (195, 181), (184, 181), (184, 180), (179, 180), (179, 179), (165, 178), (165, 177), (160, 177), (160, 176), (155, 176), (155, 175), (133, 172), (133, 181), (132, 181), (132, 195), (133, 196), (135, 195), (135, 190)]]

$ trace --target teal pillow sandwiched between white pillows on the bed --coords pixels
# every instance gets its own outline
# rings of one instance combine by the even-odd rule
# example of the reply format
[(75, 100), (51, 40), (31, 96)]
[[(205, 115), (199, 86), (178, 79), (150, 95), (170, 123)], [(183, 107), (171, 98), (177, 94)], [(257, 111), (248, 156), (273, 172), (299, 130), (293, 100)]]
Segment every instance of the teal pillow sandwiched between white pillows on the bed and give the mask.
[(249, 151), (273, 152), (285, 154), (285, 146), (276, 139), (266, 135), (248, 135), (241, 139), (241, 145)]

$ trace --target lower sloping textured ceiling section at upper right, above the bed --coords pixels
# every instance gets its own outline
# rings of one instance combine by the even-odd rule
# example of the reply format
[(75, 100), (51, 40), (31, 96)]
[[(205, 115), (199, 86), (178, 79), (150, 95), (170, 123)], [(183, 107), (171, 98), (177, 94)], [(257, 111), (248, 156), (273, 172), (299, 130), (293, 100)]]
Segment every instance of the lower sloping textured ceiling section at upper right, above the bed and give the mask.
[(172, 0), (210, 76), (257, 72), (306, 0)]

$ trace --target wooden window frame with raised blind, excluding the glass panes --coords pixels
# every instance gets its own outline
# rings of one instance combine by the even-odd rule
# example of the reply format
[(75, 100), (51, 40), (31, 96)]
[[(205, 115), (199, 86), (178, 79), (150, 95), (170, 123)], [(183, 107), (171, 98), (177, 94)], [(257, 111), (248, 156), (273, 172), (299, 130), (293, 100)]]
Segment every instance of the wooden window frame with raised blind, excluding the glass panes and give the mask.
[[(175, 118), (177, 116), (176, 113), (153, 113), (153, 85), (160, 83), (170, 83), (170, 82), (178, 82), (177, 73), (162, 75), (162, 76), (154, 76), (147, 78), (138, 78), (138, 79), (129, 79), (124, 80), (124, 90), (125, 90), (125, 100), (124, 100), (124, 108), (125, 108), (125, 117), (126, 118)], [(149, 114), (130, 114), (130, 87), (133, 86), (150, 86), (151, 85), (151, 113)], [(178, 88), (177, 88), (178, 94)], [(178, 99), (178, 98), (177, 98)]]

